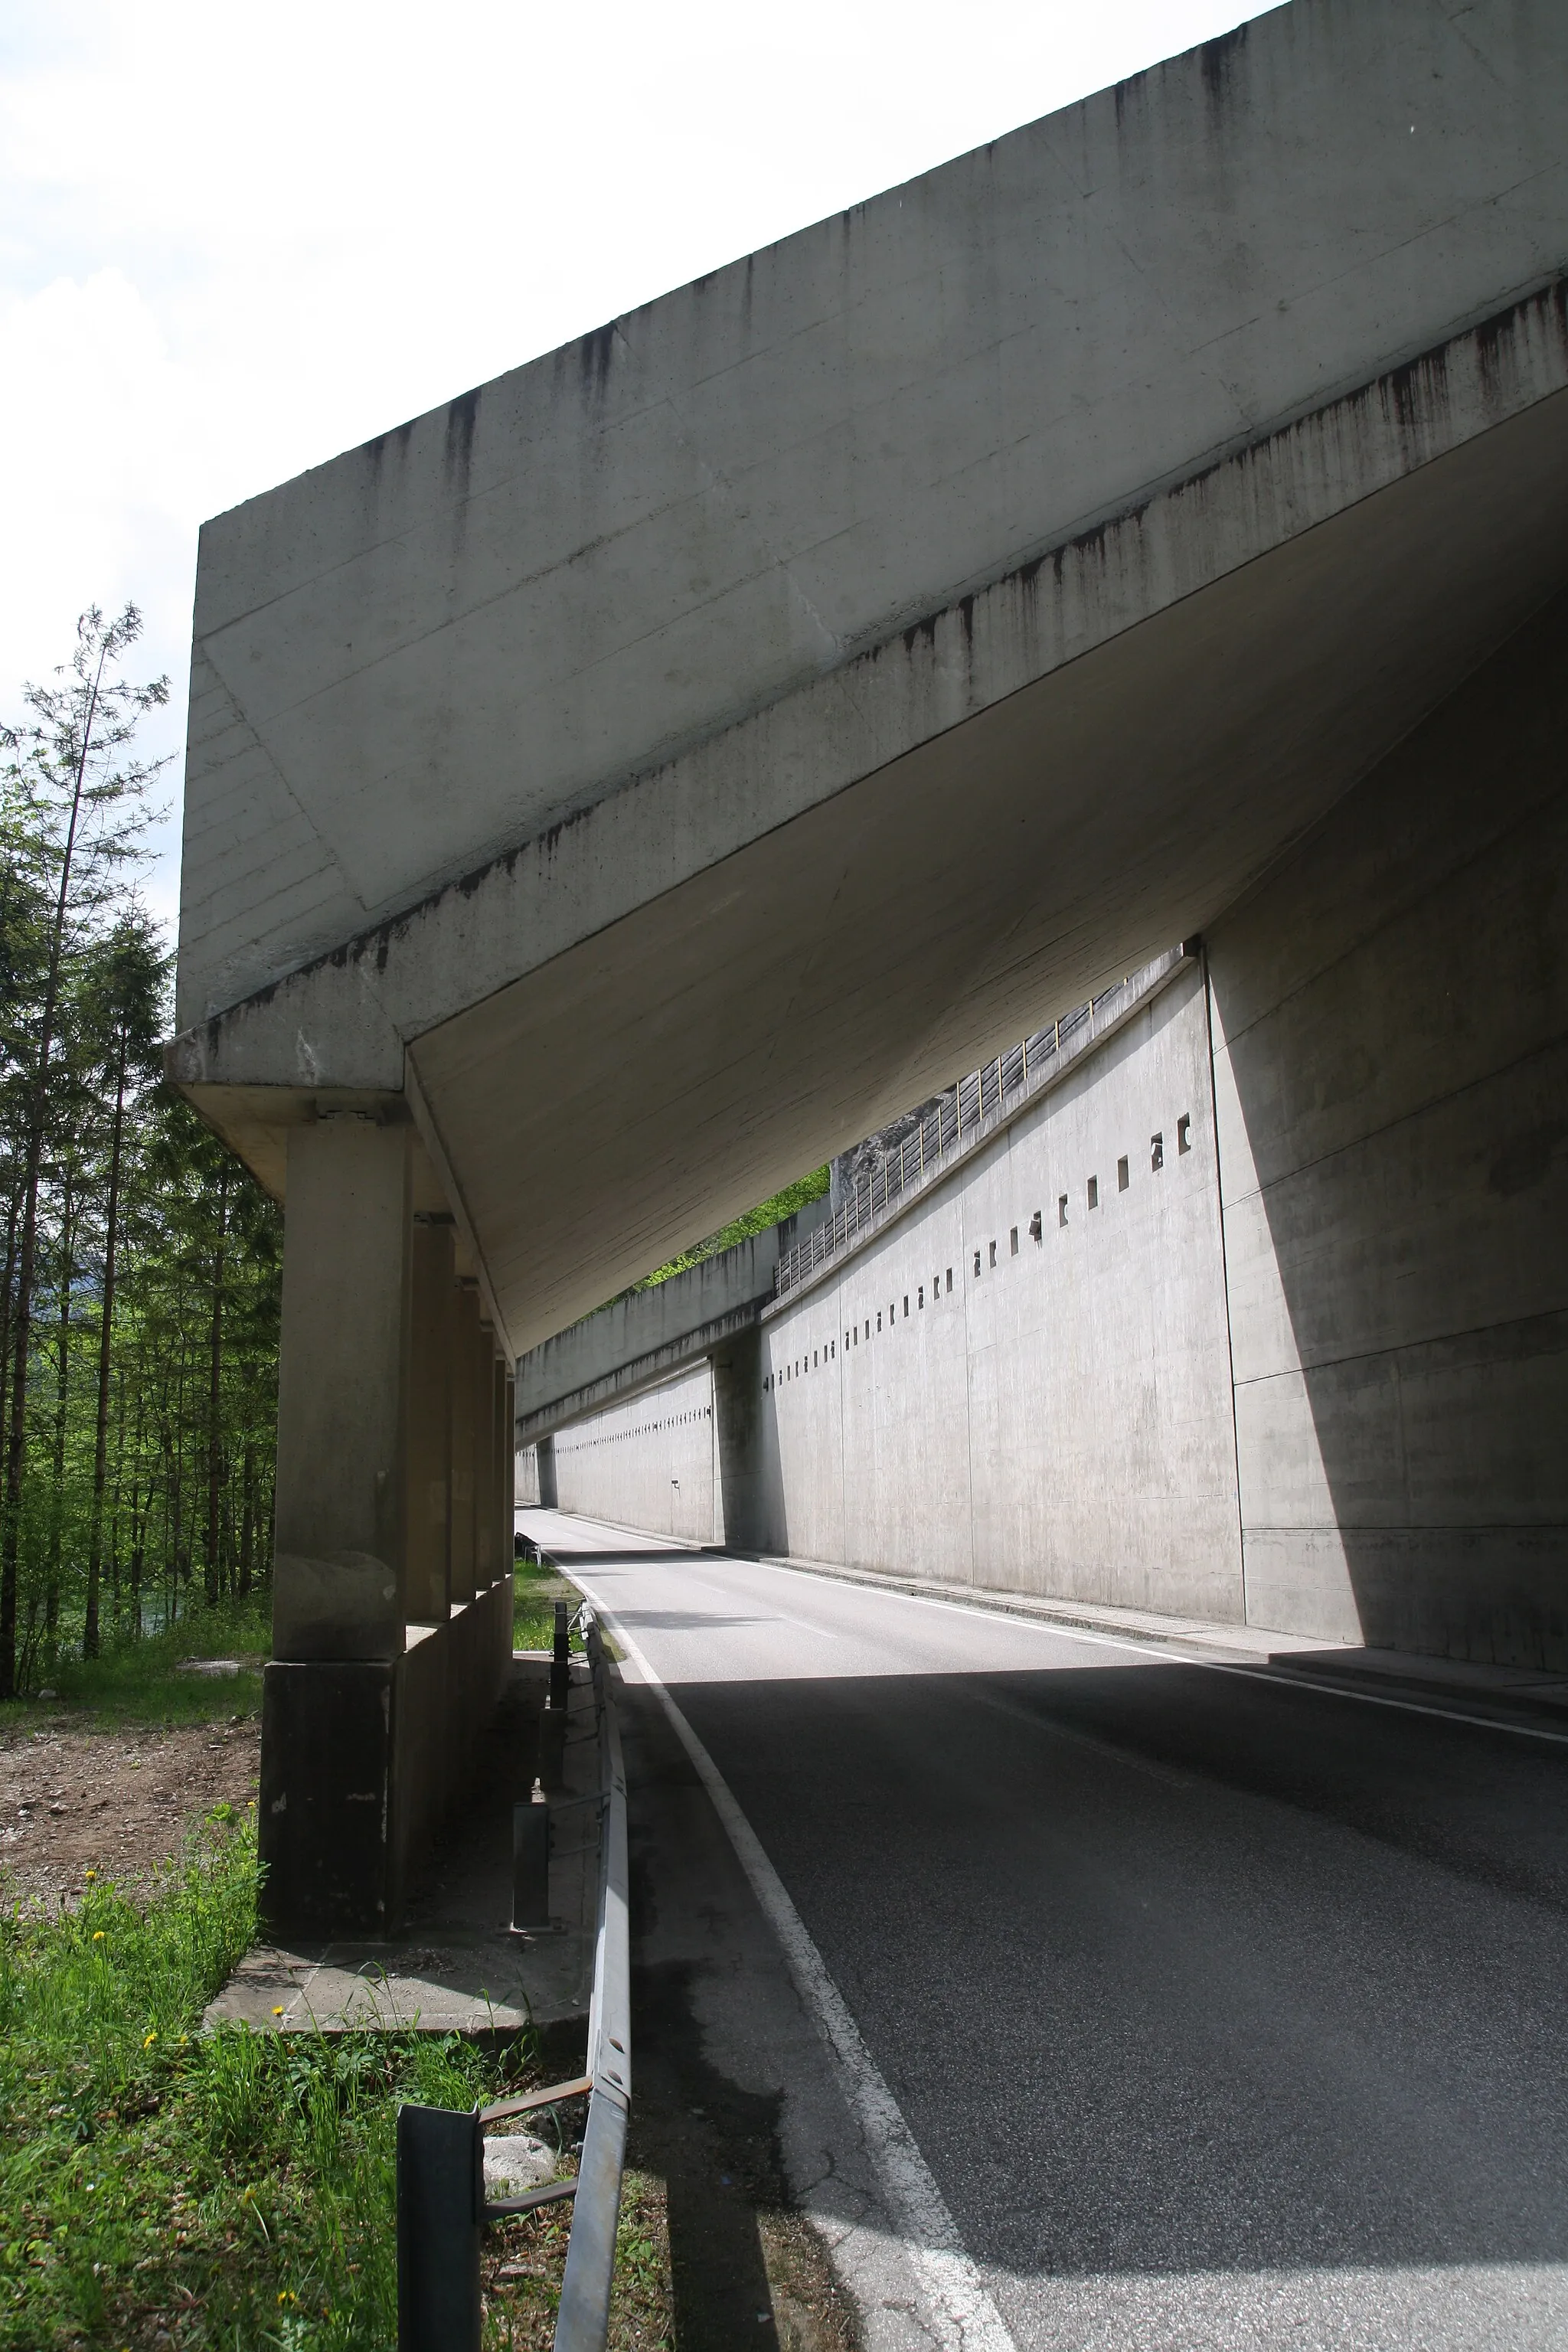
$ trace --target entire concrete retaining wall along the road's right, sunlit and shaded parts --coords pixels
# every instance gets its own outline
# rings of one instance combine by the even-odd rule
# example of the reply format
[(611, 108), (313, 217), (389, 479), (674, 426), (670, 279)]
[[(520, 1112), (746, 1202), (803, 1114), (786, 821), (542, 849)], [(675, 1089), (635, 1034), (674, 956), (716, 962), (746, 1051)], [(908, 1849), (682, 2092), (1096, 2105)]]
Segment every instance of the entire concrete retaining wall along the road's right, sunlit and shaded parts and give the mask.
[[(1568, 597), (769, 1310), (762, 1548), (1568, 1665), (1563, 741)], [(639, 1411), (562, 1503), (684, 1531)]]

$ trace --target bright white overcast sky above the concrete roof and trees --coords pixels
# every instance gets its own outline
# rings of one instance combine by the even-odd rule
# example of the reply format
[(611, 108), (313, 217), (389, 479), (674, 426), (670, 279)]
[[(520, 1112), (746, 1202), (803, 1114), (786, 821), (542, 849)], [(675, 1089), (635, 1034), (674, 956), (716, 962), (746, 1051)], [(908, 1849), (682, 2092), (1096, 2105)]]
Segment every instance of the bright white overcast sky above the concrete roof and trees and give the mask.
[(0, 710), (129, 595), (179, 750), (205, 515), (1251, 14), (7, 0)]

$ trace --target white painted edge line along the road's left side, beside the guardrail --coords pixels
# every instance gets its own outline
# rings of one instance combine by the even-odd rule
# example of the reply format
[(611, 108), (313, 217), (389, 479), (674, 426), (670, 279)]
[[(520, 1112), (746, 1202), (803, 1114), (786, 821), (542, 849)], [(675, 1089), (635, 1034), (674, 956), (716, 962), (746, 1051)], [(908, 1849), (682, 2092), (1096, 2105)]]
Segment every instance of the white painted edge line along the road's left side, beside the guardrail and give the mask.
[(903, 2232), (914, 2274), (929, 2305), (936, 2340), (945, 2347), (945, 2352), (1018, 2352), (1018, 2345), (1013, 2343), (1001, 2312), (992, 2303), (973, 2258), (964, 2249), (957, 2223), (947, 2211), (947, 2199), (931, 2178), (931, 2169), (914, 2145), (914, 2133), (898, 2112), (898, 2100), (882, 2079), (877, 2060), (860, 2039), (860, 2027), (851, 2018), (844, 1994), (827, 1973), (827, 1964), (811, 1940), (806, 1922), (795, 1910), (783, 1879), (762, 1851), (762, 1839), (736, 1804), (724, 1773), (670, 1698), (642, 1649), (632, 1642), (614, 1611), (604, 1606), (588, 1578), (564, 1564), (562, 1569), (571, 1583), (588, 1595), (625, 1656), (656, 1693), (661, 1708), (670, 1717), (677, 1740), (691, 1757), (698, 1780), (712, 1799), (715, 1813), (729, 1832), (729, 1842), (752, 1884), (752, 1893), (783, 1945), (795, 1987), (806, 2004), (816, 2030), (827, 2044), (849, 2112), (865, 2138), (882, 2190)]

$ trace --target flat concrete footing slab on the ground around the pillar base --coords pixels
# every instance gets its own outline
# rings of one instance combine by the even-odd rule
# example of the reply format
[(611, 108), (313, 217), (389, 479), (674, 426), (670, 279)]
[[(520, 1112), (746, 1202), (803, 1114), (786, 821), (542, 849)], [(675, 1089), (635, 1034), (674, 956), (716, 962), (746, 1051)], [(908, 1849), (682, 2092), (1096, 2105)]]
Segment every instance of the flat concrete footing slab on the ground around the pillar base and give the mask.
[(256, 1945), (209, 2002), (205, 2027), (275, 2032), (517, 2034), (588, 2013), (599, 1886), (597, 1825), (571, 1799), (597, 1788), (592, 1696), (574, 1675), (564, 1788), (552, 1792), (550, 1926), (515, 1933), (512, 1804), (527, 1795), (548, 1656), (517, 1653), (477, 1757), (470, 1802), (409, 1891), (395, 1936)]

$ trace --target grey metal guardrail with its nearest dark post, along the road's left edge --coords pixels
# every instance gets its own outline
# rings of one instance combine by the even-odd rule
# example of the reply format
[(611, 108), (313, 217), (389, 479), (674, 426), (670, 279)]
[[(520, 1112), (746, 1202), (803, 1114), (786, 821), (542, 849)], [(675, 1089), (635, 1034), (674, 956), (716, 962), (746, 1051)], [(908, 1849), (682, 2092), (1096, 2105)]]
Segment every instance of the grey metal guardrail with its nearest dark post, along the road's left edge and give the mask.
[[(599, 1907), (588, 2009), (588, 2067), (574, 2082), (489, 2107), (397, 2110), (397, 2352), (480, 2352), (484, 2225), (574, 2201), (555, 2352), (604, 2352), (616, 2223), (632, 2103), (625, 1771), (609, 1661), (592, 1609), (578, 1611), (599, 1733)], [(484, 2126), (588, 2098), (576, 2180), (522, 2197), (484, 2197)]]

